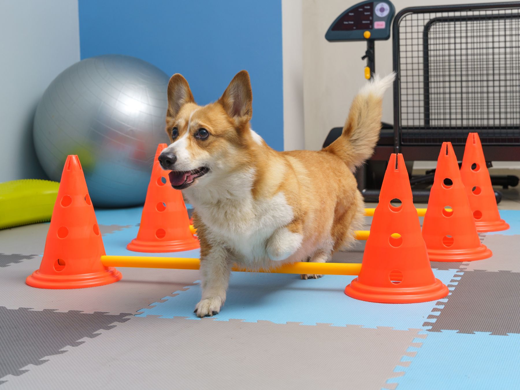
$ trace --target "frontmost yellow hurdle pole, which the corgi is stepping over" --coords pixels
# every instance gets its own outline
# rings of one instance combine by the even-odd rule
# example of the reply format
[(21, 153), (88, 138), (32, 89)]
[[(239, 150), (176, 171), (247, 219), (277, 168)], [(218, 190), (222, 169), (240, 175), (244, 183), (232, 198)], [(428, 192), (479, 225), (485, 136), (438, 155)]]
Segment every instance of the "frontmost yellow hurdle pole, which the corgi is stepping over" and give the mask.
[[(199, 269), (200, 259), (182, 257), (148, 256), (101, 256), (105, 267)], [(238, 272), (267, 272), (270, 274), (321, 274), (358, 275), (361, 264), (357, 263), (307, 263), (284, 264), (278, 268), (251, 270), (235, 266)]]

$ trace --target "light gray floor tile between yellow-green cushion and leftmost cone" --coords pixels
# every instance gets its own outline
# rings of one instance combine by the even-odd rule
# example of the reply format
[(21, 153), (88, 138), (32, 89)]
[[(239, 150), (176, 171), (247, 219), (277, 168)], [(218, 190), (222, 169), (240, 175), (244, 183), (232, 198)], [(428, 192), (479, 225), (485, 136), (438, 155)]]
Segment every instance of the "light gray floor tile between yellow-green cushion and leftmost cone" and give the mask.
[(43, 254), (49, 224), (33, 224), (0, 230), (0, 252)]

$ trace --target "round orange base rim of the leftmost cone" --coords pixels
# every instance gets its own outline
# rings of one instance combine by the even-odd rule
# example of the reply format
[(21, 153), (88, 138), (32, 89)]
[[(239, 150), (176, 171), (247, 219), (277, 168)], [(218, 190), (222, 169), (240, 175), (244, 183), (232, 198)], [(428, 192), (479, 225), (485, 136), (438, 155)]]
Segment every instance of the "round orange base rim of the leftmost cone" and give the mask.
[(107, 267), (105, 271), (84, 275), (44, 275), (36, 270), (25, 279), (25, 283), (38, 289), (83, 289), (110, 284), (121, 280), (121, 272), (113, 267)]

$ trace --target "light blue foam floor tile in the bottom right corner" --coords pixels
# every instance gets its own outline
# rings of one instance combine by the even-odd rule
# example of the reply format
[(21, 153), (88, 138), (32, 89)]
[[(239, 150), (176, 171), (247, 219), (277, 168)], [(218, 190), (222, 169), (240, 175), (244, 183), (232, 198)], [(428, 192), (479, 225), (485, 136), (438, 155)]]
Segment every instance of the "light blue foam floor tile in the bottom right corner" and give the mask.
[(405, 374), (387, 383), (398, 390), (510, 390), (520, 388), (520, 334), (428, 333)]

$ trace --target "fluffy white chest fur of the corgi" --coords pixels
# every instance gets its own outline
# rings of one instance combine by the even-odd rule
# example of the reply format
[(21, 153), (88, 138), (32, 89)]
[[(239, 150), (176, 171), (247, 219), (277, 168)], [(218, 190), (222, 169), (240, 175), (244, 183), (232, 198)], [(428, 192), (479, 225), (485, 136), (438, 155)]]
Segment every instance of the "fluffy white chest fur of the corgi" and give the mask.
[(254, 199), (253, 177), (253, 170), (221, 177), (218, 183), (207, 183), (207, 191), (186, 191), (186, 195), (206, 225), (211, 244), (224, 244), (238, 261), (258, 265), (269, 262), (267, 239), (289, 224), (294, 214), (283, 192)]

